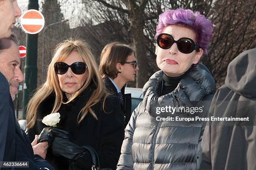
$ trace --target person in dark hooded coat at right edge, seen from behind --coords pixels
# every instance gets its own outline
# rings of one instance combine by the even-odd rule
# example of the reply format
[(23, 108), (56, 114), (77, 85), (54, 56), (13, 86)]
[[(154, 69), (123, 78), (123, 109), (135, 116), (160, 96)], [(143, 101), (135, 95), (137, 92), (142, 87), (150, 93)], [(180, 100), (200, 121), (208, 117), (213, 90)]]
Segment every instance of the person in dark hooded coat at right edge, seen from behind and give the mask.
[(230, 62), (225, 84), (216, 91), (209, 112), (215, 118), (246, 119), (209, 122), (202, 140), (201, 170), (256, 169), (255, 110), (256, 48)]

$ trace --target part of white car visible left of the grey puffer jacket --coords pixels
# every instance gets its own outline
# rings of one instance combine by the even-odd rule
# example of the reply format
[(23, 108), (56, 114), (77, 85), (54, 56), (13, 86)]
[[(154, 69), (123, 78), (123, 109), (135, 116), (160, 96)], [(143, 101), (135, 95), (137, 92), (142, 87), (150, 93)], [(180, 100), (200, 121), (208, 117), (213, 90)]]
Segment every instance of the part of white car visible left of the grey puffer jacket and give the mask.
[(133, 88), (133, 87), (125, 87), (125, 94), (131, 93), (132, 98), (132, 108), (131, 111), (133, 112), (134, 109), (138, 106), (138, 104), (143, 100), (143, 91), (141, 88)]

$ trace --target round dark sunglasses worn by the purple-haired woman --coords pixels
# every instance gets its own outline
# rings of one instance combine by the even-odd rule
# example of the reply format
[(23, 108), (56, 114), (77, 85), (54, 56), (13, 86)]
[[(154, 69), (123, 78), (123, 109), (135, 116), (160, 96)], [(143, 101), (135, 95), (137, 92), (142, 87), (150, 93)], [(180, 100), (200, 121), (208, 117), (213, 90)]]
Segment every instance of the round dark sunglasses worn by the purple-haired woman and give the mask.
[(175, 41), (170, 34), (162, 33), (156, 39), (157, 45), (163, 49), (169, 49), (174, 43), (177, 43), (178, 50), (182, 53), (192, 53), (200, 47), (190, 38), (179, 38)]

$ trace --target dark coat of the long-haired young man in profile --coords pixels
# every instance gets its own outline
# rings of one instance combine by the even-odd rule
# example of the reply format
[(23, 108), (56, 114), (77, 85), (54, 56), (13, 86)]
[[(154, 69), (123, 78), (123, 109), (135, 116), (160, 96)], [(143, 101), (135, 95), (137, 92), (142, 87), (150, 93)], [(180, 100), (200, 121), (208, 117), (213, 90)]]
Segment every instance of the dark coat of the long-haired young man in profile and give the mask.
[[(117, 89), (108, 77), (105, 79), (105, 84), (110, 94), (113, 94), (114, 96), (118, 97)], [(123, 105), (120, 103), (121, 115), (123, 116), (124, 127), (126, 127), (131, 118), (131, 94), (125, 94), (125, 87), (121, 89), (121, 93), (123, 95), (124, 102)]]

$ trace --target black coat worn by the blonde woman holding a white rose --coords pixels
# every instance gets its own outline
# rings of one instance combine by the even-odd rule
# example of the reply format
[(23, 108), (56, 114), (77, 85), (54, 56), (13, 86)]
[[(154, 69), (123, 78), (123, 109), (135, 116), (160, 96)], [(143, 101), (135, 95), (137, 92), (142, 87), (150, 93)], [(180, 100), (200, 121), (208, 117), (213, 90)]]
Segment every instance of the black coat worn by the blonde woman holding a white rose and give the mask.
[[(62, 104), (59, 109), (61, 114), (57, 127), (67, 130), (70, 134), (70, 141), (78, 146), (88, 145), (94, 148), (100, 158), (101, 167), (115, 168), (120, 156), (120, 147), (123, 141), (123, 124), (120, 121), (120, 104), (117, 98), (108, 97), (105, 101), (105, 112), (102, 109), (102, 101), (95, 104), (92, 109), (99, 120), (96, 120), (90, 113), (77, 124), (77, 116), (90, 98), (94, 85), (90, 85), (80, 96), (70, 104)], [(37, 109), (37, 121), (32, 129), (28, 130), (28, 135), (32, 140), (35, 134), (40, 134), (46, 127), (41, 120), (48, 114), (54, 105), (55, 95), (52, 94), (41, 102)], [(110, 102), (111, 101), (111, 102)], [(49, 148), (46, 160), (49, 160), (56, 170), (67, 170), (69, 161), (64, 157), (52, 155)], [(91, 169), (91, 156), (85, 153), (77, 162), (74, 162), (75, 169)]]

